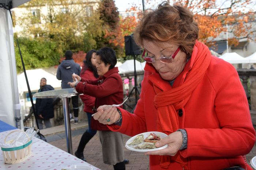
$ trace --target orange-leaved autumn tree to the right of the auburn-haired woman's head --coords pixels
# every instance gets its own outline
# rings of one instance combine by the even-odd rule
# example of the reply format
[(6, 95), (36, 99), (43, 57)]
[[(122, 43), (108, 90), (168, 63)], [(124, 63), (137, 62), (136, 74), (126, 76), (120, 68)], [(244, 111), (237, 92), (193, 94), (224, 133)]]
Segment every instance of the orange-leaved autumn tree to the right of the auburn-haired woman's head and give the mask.
[[(214, 39), (226, 32), (228, 25), (229, 45), (238, 45), (239, 39), (253, 37), (256, 28), (253, 28), (252, 21), (255, 20), (255, 13), (248, 10), (252, 7), (253, 0), (173, 0), (176, 5), (190, 9), (194, 19), (199, 26), (199, 40), (207, 46), (212, 46)], [(245, 11), (247, 10), (247, 11)], [(222, 37), (226, 40), (226, 36)]]

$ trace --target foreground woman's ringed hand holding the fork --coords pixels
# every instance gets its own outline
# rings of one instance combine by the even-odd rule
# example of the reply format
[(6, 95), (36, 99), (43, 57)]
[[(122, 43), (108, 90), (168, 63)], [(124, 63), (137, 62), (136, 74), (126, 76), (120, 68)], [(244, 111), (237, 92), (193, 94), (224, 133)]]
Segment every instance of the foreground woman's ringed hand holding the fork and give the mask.
[[(109, 108), (108, 108), (109, 107)], [(103, 111), (104, 108), (107, 108)], [(97, 113), (93, 116), (93, 119), (98, 120), (102, 124), (113, 124), (120, 119), (120, 114), (116, 107), (110, 107), (110, 105), (102, 105), (98, 107)], [(109, 121), (107, 121), (109, 119)]]

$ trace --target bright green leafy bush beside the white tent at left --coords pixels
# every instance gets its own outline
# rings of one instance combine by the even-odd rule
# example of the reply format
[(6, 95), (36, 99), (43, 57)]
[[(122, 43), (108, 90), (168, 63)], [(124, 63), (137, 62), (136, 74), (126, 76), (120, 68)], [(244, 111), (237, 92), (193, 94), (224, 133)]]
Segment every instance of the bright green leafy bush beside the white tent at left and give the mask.
[[(50, 67), (59, 63), (60, 56), (57, 52), (56, 43), (41, 38), (18, 38), (18, 41), (26, 69)], [(16, 41), (15, 58), (17, 72), (21, 72), (23, 68)]]

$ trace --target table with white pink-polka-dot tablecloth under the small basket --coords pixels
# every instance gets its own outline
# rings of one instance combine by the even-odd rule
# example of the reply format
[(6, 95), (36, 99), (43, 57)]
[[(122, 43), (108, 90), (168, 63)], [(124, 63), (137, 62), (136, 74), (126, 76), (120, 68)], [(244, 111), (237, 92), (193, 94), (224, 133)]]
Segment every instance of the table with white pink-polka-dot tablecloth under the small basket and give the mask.
[[(3, 142), (11, 131), (1, 132), (0, 142)], [(32, 141), (31, 157), (20, 163), (4, 163), (3, 152), (0, 151), (0, 170), (61, 170), (74, 165), (89, 165), (93, 170), (100, 170), (41, 139), (33, 137)]]

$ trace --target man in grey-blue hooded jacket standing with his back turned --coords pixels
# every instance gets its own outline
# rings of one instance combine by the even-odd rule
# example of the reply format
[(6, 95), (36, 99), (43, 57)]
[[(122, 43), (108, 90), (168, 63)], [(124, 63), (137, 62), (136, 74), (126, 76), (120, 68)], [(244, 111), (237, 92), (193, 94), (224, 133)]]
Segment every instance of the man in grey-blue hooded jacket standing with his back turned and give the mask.
[[(73, 53), (72, 51), (66, 51), (65, 53), (65, 60), (61, 62), (61, 64), (58, 67), (57, 70), (57, 79), (61, 80), (61, 88), (62, 89), (68, 89), (70, 88), (70, 85), (68, 85), (68, 82), (73, 82), (72, 74), (75, 73), (77, 75), (80, 75), (81, 67), (78, 63), (75, 63), (74, 59), (72, 58)], [(72, 98), (72, 105), (73, 105), (73, 111), (74, 111), (74, 124), (78, 123), (78, 96), (73, 96)], [(70, 99), (70, 98), (69, 98)], [(70, 100), (69, 100), (70, 101)], [(70, 121), (74, 121), (72, 118), (72, 113), (69, 113), (71, 119)]]

